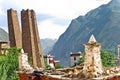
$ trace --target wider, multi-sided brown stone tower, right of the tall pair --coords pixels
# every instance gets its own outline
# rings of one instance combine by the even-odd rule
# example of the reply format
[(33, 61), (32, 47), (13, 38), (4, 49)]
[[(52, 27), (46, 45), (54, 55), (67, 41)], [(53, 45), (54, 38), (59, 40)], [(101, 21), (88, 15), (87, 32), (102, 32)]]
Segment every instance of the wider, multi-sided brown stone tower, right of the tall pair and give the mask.
[(21, 11), (22, 47), (29, 58), (32, 58), (34, 67), (44, 67), (40, 38), (37, 28), (36, 16), (33, 10)]

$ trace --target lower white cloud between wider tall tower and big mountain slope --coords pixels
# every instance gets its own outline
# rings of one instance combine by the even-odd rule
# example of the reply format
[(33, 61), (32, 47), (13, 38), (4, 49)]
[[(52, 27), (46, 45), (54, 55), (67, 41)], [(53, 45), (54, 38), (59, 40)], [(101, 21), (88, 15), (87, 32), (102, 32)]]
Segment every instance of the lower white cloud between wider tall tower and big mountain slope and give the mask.
[(56, 39), (66, 29), (66, 26), (54, 24), (53, 20), (45, 20), (43, 22), (40, 22), (38, 23), (38, 27), (41, 39), (43, 38)]

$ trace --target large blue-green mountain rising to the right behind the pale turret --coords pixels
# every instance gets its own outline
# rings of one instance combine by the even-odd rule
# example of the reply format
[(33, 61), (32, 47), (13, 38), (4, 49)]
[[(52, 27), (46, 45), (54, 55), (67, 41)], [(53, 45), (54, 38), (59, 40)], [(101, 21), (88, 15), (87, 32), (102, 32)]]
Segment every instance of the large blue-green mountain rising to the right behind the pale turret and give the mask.
[(50, 53), (60, 60), (62, 66), (68, 66), (69, 53), (84, 52), (82, 44), (87, 43), (92, 34), (101, 43), (102, 49), (117, 52), (120, 44), (120, 0), (112, 0), (85, 16), (73, 19)]

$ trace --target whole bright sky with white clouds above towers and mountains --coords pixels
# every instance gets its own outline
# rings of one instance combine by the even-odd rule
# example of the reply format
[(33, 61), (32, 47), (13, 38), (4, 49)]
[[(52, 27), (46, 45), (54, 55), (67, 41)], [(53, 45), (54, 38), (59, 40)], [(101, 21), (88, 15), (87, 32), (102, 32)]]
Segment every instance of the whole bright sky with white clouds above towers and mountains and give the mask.
[(85, 15), (91, 9), (110, 0), (0, 0), (0, 27), (7, 29), (7, 9), (17, 10), (20, 20), (22, 9), (36, 12), (40, 38), (59, 38), (72, 19)]

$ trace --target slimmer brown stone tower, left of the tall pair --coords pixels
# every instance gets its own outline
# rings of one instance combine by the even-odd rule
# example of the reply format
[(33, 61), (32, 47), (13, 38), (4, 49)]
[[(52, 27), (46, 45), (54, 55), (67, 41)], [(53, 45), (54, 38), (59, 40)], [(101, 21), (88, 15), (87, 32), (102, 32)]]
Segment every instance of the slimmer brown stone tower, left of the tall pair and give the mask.
[(22, 39), (17, 11), (7, 10), (10, 47), (22, 48)]

